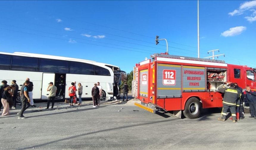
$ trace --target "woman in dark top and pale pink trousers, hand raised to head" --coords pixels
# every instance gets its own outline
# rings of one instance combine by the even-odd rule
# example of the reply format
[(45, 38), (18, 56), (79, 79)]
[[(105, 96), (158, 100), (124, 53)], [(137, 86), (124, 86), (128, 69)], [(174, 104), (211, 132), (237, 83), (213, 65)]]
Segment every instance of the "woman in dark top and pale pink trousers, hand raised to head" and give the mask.
[(12, 99), (13, 93), (11, 92), (11, 90), (13, 90), (14, 88), (15, 88), (14, 85), (10, 85), (10, 86), (4, 88), (4, 93), (1, 98), (1, 102), (4, 106), (2, 116), (9, 115), (9, 110), (10, 110), (9, 101), (13, 100)]

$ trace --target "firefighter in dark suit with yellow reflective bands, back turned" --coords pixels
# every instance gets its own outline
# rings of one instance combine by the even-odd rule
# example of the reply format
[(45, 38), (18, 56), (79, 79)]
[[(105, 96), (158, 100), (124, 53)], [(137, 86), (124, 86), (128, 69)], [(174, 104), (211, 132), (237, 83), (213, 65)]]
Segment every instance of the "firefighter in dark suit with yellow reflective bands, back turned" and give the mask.
[(218, 118), (218, 120), (225, 121), (227, 110), (230, 108), (232, 119), (233, 119), (233, 122), (235, 123), (237, 122), (236, 105), (240, 104), (241, 92), (240, 90), (235, 89), (235, 85), (233, 83), (229, 83), (228, 86), (229, 87), (226, 87), (226, 88), (223, 88), (223, 87), (218, 88), (219, 92), (224, 93), (224, 97), (222, 101), (223, 108), (221, 112), (221, 118)]

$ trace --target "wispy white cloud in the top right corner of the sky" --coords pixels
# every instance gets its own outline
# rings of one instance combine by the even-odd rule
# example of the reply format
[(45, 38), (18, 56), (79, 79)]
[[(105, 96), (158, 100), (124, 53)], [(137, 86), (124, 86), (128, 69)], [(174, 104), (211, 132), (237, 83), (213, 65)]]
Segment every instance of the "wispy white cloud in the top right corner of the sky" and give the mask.
[(244, 11), (249, 10), (251, 8), (256, 7), (256, 1), (246, 1), (243, 4), (240, 5), (238, 10), (234, 10), (233, 12), (229, 12), (228, 14), (231, 16), (234, 15), (241, 15)]

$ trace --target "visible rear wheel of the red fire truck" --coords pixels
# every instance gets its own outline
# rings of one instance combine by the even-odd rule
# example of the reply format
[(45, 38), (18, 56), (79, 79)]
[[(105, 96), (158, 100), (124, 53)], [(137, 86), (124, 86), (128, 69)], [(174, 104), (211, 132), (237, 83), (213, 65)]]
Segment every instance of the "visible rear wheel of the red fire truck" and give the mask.
[(183, 114), (186, 118), (195, 119), (198, 118), (201, 114), (202, 104), (199, 99), (191, 97), (185, 104), (185, 110)]

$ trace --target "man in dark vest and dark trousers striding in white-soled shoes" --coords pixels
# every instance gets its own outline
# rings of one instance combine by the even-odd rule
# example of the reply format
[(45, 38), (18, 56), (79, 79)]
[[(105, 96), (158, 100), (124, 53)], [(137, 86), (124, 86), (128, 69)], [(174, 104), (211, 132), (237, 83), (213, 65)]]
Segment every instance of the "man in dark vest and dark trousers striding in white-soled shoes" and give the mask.
[(18, 112), (17, 114), (19, 115), (18, 119), (25, 119), (26, 117), (24, 117), (23, 113), (24, 111), (30, 106), (30, 98), (29, 98), (29, 80), (26, 80), (24, 85), (22, 85), (21, 87), (21, 102), (22, 102), (22, 108), (21, 111)]

